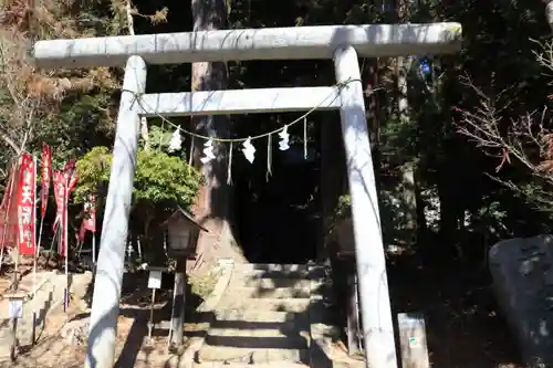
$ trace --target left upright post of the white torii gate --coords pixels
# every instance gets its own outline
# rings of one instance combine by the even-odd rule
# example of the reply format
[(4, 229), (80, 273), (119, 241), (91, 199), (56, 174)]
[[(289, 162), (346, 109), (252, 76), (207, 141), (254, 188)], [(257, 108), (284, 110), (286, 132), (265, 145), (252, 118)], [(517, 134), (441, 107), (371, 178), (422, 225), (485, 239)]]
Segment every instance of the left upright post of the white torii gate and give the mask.
[(113, 149), (112, 174), (100, 241), (91, 311), (86, 368), (112, 368), (125, 265), (131, 197), (138, 150), (139, 105), (145, 92), (146, 63), (131, 56), (125, 67)]

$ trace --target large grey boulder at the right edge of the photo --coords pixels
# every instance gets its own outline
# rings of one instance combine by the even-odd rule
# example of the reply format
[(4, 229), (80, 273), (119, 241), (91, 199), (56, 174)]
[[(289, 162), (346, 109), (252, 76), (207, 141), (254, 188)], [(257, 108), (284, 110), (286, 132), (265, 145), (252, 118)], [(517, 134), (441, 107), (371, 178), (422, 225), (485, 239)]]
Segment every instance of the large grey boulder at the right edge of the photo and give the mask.
[(529, 367), (553, 367), (553, 236), (510, 239), (489, 252), (493, 290)]

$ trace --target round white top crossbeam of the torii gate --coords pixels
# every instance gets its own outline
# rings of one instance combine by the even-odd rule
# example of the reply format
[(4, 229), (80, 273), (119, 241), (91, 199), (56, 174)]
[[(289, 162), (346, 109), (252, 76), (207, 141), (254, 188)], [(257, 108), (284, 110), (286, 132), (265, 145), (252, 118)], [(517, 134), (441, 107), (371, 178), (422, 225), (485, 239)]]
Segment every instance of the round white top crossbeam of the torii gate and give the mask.
[(459, 23), (265, 28), (39, 41), (39, 67), (123, 66), (132, 55), (148, 64), (244, 60), (332, 59), (351, 45), (362, 57), (455, 53)]

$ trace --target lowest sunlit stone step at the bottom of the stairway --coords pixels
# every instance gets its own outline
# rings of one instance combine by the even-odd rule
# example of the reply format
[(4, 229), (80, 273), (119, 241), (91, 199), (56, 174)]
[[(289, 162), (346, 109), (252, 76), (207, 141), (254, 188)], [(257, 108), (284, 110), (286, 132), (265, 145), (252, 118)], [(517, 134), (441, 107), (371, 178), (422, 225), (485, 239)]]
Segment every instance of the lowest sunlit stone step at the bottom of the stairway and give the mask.
[[(259, 338), (252, 339), (252, 343), (255, 340), (259, 340)], [(309, 350), (294, 348), (212, 346), (205, 344), (198, 351), (197, 360), (199, 362), (218, 361), (249, 365), (268, 364), (271, 361), (307, 362)]]

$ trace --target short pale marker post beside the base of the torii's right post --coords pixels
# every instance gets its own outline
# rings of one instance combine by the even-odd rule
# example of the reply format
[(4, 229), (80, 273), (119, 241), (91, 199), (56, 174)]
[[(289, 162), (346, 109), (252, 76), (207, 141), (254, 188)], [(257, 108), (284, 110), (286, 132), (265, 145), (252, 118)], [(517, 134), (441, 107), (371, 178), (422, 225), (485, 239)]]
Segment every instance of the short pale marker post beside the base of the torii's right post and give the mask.
[(429, 368), (425, 317), (421, 313), (399, 313), (399, 343), (403, 368)]

